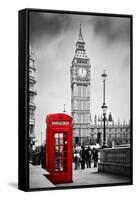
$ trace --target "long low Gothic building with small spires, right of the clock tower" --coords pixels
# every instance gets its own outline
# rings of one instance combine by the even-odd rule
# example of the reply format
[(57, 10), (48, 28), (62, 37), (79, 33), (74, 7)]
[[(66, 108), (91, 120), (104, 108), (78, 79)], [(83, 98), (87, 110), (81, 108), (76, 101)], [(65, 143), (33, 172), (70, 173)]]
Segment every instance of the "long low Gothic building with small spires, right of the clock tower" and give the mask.
[[(103, 144), (103, 121), (95, 115), (90, 124), (90, 140), (88, 144)], [(106, 121), (106, 145), (108, 147), (130, 144), (130, 124), (123, 122)]]

